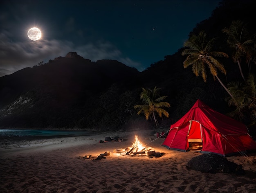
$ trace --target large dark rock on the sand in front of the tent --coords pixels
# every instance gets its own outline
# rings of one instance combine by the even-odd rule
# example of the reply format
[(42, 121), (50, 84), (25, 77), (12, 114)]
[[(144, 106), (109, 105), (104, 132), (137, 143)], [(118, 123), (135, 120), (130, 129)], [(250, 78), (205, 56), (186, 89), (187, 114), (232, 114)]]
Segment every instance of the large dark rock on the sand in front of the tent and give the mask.
[(227, 158), (217, 154), (202, 154), (194, 157), (186, 164), (186, 169), (201, 171), (204, 173), (235, 173), (236, 175), (244, 175), (242, 165), (230, 162)]

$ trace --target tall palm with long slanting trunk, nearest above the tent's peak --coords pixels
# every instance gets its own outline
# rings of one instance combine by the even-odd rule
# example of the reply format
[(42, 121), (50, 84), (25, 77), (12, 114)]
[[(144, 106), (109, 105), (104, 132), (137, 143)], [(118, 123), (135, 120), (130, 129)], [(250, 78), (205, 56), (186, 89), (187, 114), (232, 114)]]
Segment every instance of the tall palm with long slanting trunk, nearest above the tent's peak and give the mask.
[(182, 56), (188, 55), (183, 62), (183, 66), (184, 68), (187, 68), (192, 65), (192, 70), (195, 76), (198, 77), (201, 75), (204, 82), (207, 80), (206, 68), (208, 67), (211, 75), (213, 75), (213, 79), (215, 80), (215, 78), (217, 78), (223, 88), (231, 97), (233, 97), (218, 77), (218, 70), (225, 75), (227, 72), (223, 64), (216, 59), (216, 57), (228, 58), (228, 55), (224, 52), (211, 51), (215, 39), (216, 38), (213, 38), (207, 41), (206, 33), (204, 31), (199, 32), (198, 35), (192, 35), (186, 42), (184, 42), (184, 46), (189, 47), (189, 49), (185, 49), (182, 52)]

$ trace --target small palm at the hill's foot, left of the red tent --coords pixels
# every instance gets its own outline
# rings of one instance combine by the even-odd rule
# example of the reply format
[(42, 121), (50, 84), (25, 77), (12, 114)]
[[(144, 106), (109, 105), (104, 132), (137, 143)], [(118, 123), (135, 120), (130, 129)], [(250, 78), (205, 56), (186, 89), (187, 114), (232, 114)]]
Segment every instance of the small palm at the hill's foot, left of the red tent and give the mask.
[(160, 96), (159, 94), (160, 88), (152, 89), (145, 89), (142, 88), (142, 92), (140, 94), (140, 99), (144, 103), (144, 105), (135, 105), (135, 109), (139, 109), (138, 115), (144, 112), (144, 115), (146, 117), (146, 120), (149, 118), (154, 119), (156, 127), (159, 126), (158, 121), (155, 117), (155, 114), (158, 114), (159, 117), (166, 116), (169, 117), (169, 113), (162, 109), (162, 107), (170, 107), (170, 104), (167, 102), (164, 102), (164, 99), (166, 99), (167, 96)]

